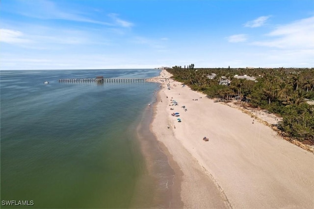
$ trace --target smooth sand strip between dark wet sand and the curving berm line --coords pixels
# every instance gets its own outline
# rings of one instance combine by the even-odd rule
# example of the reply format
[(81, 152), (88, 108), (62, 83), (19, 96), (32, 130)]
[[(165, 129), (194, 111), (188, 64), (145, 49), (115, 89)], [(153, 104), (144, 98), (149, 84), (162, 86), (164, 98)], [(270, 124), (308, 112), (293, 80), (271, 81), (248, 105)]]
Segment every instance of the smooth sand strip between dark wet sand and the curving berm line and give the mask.
[[(168, 79), (165, 78), (165, 80)], [(154, 78), (152, 81), (160, 82)], [(168, 109), (166, 96), (162, 94), (163, 91), (165, 89), (162, 87), (157, 93), (157, 102), (154, 105), (155, 115), (150, 129), (157, 140), (165, 145), (166, 150), (164, 151), (169, 153), (168, 157), (179, 165), (179, 167), (174, 168), (175, 173), (183, 172), (181, 190), (179, 191), (184, 204), (183, 208), (231, 208), (226, 195), (213, 177), (181, 143), (177, 143), (173, 132), (174, 123), (170, 122), (168, 117), (162, 116), (164, 111)], [(168, 124), (171, 127), (169, 129), (167, 128)]]

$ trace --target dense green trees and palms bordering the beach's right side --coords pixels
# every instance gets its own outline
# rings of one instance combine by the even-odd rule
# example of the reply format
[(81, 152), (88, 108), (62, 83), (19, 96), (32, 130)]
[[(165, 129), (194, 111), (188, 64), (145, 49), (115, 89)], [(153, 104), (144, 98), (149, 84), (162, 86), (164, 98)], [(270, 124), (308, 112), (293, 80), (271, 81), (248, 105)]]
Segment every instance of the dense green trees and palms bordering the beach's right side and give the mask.
[[(282, 116), (280, 128), (290, 137), (314, 143), (314, 106), (306, 103), (306, 99), (314, 99), (313, 68), (194, 69), (192, 64), (167, 70), (175, 80), (210, 98), (224, 101), (247, 98), (250, 105)], [(235, 75), (248, 75), (256, 80), (238, 79)], [(222, 80), (229, 85), (219, 85)]]

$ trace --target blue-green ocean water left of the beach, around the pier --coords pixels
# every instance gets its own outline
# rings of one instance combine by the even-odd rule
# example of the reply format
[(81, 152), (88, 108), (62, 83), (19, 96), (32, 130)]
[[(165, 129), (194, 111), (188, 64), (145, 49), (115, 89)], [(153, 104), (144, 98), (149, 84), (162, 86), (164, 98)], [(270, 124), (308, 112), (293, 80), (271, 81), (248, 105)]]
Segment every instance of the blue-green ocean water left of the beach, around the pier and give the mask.
[(58, 79), (159, 72), (0, 71), (1, 201), (34, 203), (1, 208), (130, 208), (146, 172), (136, 127), (159, 85)]

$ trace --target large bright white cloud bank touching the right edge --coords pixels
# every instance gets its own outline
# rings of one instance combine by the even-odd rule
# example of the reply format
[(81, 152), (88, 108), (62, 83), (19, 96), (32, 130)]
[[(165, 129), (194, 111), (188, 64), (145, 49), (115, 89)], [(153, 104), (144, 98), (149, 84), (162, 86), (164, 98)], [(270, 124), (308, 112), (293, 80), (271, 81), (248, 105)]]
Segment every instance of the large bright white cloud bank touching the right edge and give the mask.
[(277, 26), (266, 37), (269, 39), (252, 44), (278, 48), (314, 48), (314, 16)]

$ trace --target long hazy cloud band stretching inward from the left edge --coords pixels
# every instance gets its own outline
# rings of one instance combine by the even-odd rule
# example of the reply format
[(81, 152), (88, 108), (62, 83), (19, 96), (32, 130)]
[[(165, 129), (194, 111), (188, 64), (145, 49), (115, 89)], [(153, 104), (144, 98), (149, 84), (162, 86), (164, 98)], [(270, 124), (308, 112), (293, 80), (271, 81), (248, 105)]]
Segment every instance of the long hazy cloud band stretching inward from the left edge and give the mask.
[[(28, 49), (60, 49), (72, 46), (108, 45), (107, 36), (93, 31), (28, 24), (27, 27), (0, 28), (0, 42)], [(72, 47), (71, 46), (71, 47)]]

